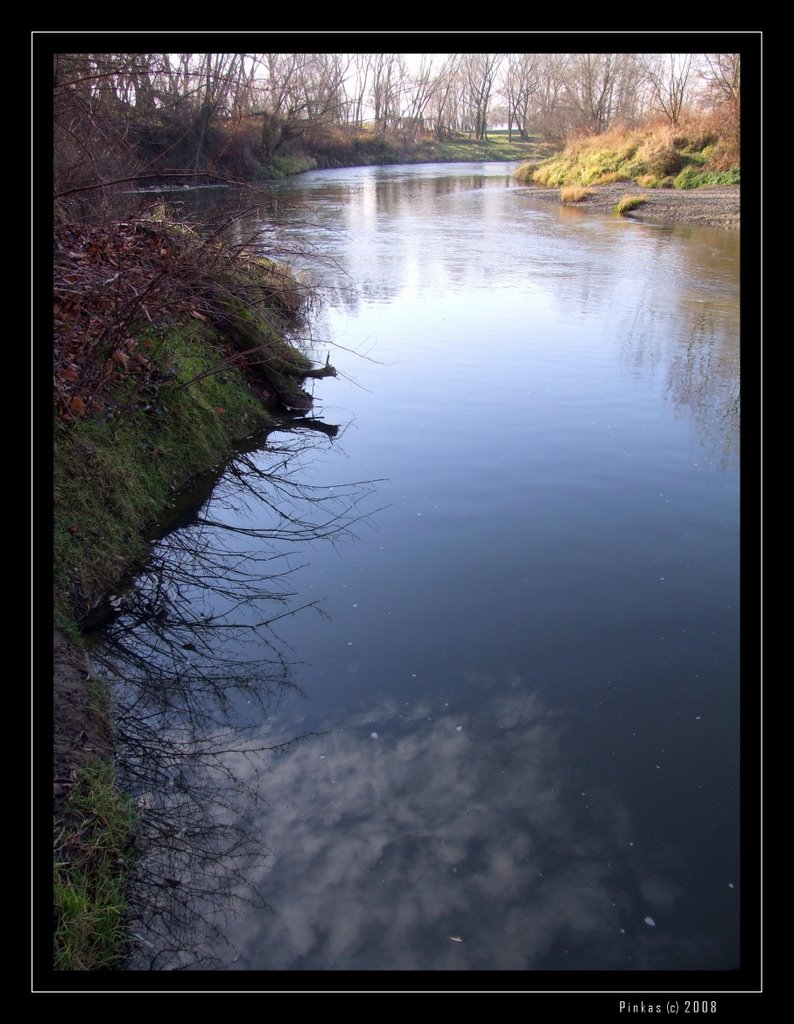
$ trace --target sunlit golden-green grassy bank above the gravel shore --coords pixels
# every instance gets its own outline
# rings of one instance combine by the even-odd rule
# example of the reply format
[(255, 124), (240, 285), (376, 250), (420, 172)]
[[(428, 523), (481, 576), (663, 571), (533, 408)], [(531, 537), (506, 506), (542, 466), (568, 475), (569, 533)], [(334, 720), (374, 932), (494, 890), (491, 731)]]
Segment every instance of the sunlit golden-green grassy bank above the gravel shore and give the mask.
[(739, 184), (738, 143), (713, 122), (615, 130), (570, 141), (541, 163), (519, 167), (520, 184), (558, 188), (635, 181), (643, 188)]

